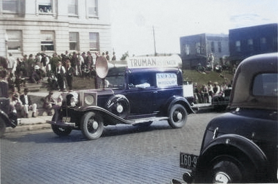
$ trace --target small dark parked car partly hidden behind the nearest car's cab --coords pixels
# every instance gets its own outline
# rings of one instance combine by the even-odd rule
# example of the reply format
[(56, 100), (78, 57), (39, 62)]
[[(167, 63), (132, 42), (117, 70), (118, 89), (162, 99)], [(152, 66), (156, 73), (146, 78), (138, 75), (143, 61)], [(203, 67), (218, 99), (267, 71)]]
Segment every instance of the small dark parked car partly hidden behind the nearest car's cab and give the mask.
[(230, 94), (231, 87), (228, 87), (227, 89), (223, 90), (222, 93), (215, 95), (211, 99), (211, 106), (213, 106), (213, 109), (217, 111), (225, 110), (229, 104)]

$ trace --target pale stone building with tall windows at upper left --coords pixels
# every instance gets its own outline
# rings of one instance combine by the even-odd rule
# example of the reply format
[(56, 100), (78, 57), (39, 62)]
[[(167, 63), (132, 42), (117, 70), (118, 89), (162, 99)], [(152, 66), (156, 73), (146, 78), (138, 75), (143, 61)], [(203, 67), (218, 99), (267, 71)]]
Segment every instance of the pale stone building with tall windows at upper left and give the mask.
[(112, 51), (109, 0), (1, 0), (0, 56)]

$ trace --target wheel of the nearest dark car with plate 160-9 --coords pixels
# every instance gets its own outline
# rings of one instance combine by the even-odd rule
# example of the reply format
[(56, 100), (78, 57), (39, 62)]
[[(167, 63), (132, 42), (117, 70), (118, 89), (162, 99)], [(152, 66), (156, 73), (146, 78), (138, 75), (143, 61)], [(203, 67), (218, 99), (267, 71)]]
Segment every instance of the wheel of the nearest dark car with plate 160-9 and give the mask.
[(217, 156), (199, 170), (195, 183), (250, 183), (252, 169), (233, 156)]

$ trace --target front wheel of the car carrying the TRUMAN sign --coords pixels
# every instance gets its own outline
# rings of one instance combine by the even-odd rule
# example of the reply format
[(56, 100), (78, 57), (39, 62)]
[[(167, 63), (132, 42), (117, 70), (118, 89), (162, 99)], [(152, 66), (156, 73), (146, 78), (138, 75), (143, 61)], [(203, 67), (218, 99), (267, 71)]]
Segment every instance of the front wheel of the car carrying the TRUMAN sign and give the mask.
[(104, 131), (104, 121), (95, 112), (86, 112), (81, 119), (81, 131), (88, 140), (99, 138)]

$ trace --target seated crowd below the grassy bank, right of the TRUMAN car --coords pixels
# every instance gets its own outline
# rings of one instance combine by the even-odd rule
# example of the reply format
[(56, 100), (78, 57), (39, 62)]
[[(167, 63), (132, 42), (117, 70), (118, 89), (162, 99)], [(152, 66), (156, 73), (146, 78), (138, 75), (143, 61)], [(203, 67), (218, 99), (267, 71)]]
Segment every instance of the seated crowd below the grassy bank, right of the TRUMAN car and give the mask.
[(212, 83), (211, 81), (203, 85), (197, 85), (195, 83), (193, 86), (194, 103), (211, 103), (211, 99), (215, 95), (223, 94), (224, 90), (228, 87), (231, 87), (231, 83), (224, 82), (221, 85), (218, 82)]

